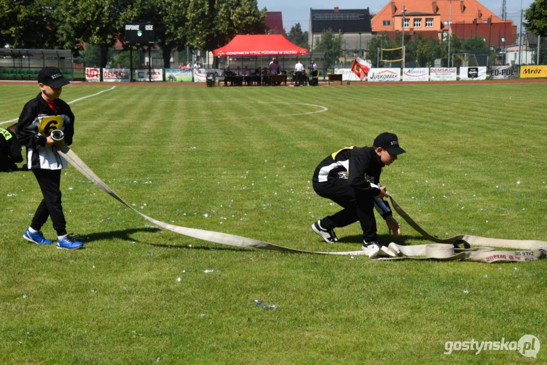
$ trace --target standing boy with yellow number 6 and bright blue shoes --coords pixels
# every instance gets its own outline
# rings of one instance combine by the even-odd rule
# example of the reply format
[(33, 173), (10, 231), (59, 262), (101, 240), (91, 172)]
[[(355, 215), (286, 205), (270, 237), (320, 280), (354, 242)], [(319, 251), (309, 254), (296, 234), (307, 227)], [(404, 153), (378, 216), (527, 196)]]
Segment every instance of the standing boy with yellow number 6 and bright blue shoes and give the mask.
[[(61, 205), (61, 170), (67, 167), (55, 145), (72, 143), (74, 135), (74, 114), (61, 99), (62, 86), (69, 84), (59, 68), (44, 67), (38, 73), (40, 94), (26, 103), (17, 124), (17, 138), (27, 148), (27, 167), (32, 170), (42, 190), (43, 199), (38, 206), (30, 227), (23, 238), (40, 245), (51, 245), (40, 229), (51, 217), (57, 231), (57, 248), (75, 250), (82, 248), (82, 242), (67, 234), (65, 215)], [(62, 130), (64, 141), (54, 141), (53, 130)]]

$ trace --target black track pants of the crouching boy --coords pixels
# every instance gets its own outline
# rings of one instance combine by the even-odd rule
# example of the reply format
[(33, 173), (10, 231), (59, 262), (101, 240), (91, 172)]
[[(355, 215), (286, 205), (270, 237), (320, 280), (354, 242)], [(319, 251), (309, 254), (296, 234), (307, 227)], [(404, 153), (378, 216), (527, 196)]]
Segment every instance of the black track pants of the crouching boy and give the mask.
[(332, 216), (321, 219), (321, 226), (324, 229), (345, 227), (359, 221), (363, 229), (363, 239), (377, 240), (373, 196), (362, 196), (357, 199), (353, 188), (348, 186), (347, 179), (314, 182), (313, 190), (317, 195), (330, 199), (344, 208)]

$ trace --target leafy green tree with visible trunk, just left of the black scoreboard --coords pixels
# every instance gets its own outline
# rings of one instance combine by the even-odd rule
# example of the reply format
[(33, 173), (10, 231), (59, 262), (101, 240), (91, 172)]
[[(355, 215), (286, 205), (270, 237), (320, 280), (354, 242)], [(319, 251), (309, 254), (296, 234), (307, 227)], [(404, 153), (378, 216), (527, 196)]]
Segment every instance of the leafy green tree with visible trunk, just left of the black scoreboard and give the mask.
[(81, 43), (101, 49), (100, 67), (105, 67), (109, 48), (123, 30), (124, 22), (137, 12), (131, 0), (60, 0), (59, 37), (66, 48), (77, 50)]

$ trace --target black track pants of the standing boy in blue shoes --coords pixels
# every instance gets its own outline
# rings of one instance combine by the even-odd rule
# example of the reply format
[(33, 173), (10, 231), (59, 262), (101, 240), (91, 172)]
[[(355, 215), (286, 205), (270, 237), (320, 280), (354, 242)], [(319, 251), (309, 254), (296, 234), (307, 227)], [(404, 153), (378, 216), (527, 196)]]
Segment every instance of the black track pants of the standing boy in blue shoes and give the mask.
[(38, 205), (36, 213), (32, 218), (31, 227), (40, 230), (48, 217), (51, 217), (53, 228), (57, 231), (57, 235), (62, 236), (67, 233), (65, 215), (61, 205), (61, 171), (62, 170), (32, 170), (38, 181), (40, 190), (44, 199)]

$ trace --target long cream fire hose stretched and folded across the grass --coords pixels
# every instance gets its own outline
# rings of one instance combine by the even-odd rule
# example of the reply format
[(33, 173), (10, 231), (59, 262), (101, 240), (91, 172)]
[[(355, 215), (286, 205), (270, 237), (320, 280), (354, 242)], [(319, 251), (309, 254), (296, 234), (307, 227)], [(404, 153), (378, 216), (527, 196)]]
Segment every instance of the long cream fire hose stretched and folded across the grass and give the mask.
[[(537, 260), (546, 256), (547, 242), (544, 241), (522, 241), (522, 240), (499, 240), (479, 236), (459, 235), (448, 239), (441, 240), (427, 233), (420, 227), (404, 210), (397, 204), (397, 202), (389, 196), (395, 211), (399, 213), (401, 217), (405, 219), (410, 226), (421, 233), (428, 240), (437, 242), (435, 245), (411, 245), (401, 246), (389, 244), (388, 247), (382, 247), (382, 250), (375, 250), (375, 252), (368, 251), (333, 251), (333, 252), (312, 252), (295, 250), (294, 248), (278, 246), (270, 244), (268, 242), (250, 239), (247, 237), (236, 236), (232, 234), (214, 232), (210, 230), (195, 229), (179, 227), (169, 223), (156, 221), (154, 218), (150, 218), (143, 213), (137, 211), (131, 205), (127, 204), (121, 199), (107, 184), (105, 184), (91, 169), (82, 161), (78, 155), (76, 155), (66, 144), (60, 144), (57, 146), (57, 150), (76, 170), (82, 175), (87, 177), (91, 182), (98, 186), (101, 190), (112, 196), (112, 198), (118, 200), (121, 204), (129, 207), (138, 215), (158, 225), (159, 227), (173, 231), (174, 233), (182, 234), (196, 239), (215, 242), (217, 244), (236, 246), (236, 247), (248, 247), (248, 248), (260, 248), (261, 250), (274, 250), (274, 251), (286, 251), (296, 253), (315, 253), (315, 254), (334, 254), (334, 255), (367, 255), (371, 259), (404, 259), (404, 258), (418, 258), (418, 259), (437, 259), (437, 260), (467, 260), (467, 261), (479, 261), (486, 263), (493, 263), (499, 261), (514, 261), (523, 262)], [(520, 250), (529, 251), (494, 251), (493, 248), (488, 247), (473, 247), (473, 248), (459, 248), (458, 242), (469, 242), (473, 245), (484, 245), (492, 247), (504, 247), (504, 248), (519, 248)]]

